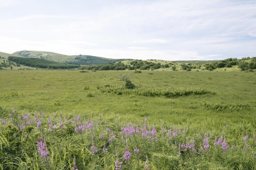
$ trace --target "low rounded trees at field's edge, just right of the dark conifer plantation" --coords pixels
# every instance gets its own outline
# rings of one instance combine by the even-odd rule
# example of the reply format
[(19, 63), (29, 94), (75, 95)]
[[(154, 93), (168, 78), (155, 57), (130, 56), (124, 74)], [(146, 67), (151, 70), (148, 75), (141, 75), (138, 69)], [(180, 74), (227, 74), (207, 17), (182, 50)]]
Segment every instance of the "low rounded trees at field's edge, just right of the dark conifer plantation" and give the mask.
[(125, 70), (127, 65), (124, 65), (121, 61), (115, 63), (108, 63), (108, 64), (99, 64), (99, 65), (92, 65), (92, 66), (83, 66), (79, 69), (81, 70)]

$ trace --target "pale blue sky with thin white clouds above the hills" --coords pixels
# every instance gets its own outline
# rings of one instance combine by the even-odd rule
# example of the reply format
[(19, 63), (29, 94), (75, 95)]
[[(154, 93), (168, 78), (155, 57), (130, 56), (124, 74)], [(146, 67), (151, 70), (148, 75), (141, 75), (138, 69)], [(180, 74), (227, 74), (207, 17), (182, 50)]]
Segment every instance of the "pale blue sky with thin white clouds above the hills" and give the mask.
[(256, 0), (0, 0), (0, 51), (160, 60), (256, 56)]

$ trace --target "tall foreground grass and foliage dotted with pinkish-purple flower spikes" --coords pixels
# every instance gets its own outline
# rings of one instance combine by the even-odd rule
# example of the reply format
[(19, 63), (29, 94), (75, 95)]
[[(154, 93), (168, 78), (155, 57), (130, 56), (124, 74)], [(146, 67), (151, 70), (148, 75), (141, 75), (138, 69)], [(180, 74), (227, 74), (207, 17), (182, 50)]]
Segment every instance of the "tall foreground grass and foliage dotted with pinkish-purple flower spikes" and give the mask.
[[(19, 117), (16, 125), (15, 116)], [(13, 112), (3, 120), (0, 169), (115, 169), (116, 161), (123, 169), (256, 168), (255, 129), (234, 138), (228, 131), (195, 131), (189, 124), (170, 121), (155, 126), (146, 118), (118, 122), (100, 115), (83, 118), (41, 113), (20, 117)], [(33, 130), (28, 142), (17, 147), (18, 139), (13, 137), (20, 134), (18, 127), (23, 125), (21, 135), (27, 126)], [(38, 141), (45, 147), (39, 148)]]

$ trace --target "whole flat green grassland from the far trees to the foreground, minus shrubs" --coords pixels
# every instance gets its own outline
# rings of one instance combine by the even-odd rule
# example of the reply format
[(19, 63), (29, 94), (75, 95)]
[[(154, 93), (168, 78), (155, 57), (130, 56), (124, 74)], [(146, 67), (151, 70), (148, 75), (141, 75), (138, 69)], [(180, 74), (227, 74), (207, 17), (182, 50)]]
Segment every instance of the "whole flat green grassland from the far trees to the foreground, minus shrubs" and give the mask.
[[(149, 86), (152, 89), (202, 88), (211, 90), (214, 94), (153, 97), (135, 93), (120, 95), (102, 93), (97, 88), (104, 84), (123, 85), (124, 81), (121, 79), (123, 74), (129, 74), (130, 80), (135, 85)], [(124, 169), (143, 169), (147, 162), (146, 156), (151, 169), (256, 168), (254, 157), (256, 138), (253, 136), (256, 133), (256, 73), (254, 72), (88, 71), (80, 73), (78, 70), (0, 70), (0, 87), (0, 119), (7, 121), (8, 110), (11, 111), (13, 107), (15, 110), (13, 115), (27, 115), (29, 112), (31, 120), (32, 117), (35, 118), (34, 123), (31, 123), (34, 126), (33, 134), (31, 132), (31, 137), (23, 146), (24, 150), (20, 149), (19, 152), (23, 155), (20, 156), (22, 161), (29, 160), (28, 163), (20, 163), (22, 161), (18, 159), (11, 161), (10, 155), (15, 155), (14, 152), (11, 148), (3, 151), (2, 147), (0, 156), (10, 156), (8, 160), (0, 158), (3, 161), (2, 169), (7, 165), (4, 163), (15, 161), (18, 162), (20, 169), (26, 167), (71, 169), (71, 166), (77, 166), (78, 169), (114, 169), (115, 148), (118, 151), (119, 161), (126, 160), (123, 159), (126, 151), (132, 152), (131, 160), (128, 158), (128, 163), (122, 164)], [(36, 113), (41, 112), (44, 112), (44, 115), (36, 116)], [(85, 132), (74, 131), (76, 127), (71, 121), (77, 116), (81, 116), (81, 121), (94, 122), (95, 127), (92, 128), (87, 124)], [(151, 139), (157, 136), (158, 140), (143, 138), (143, 130), (146, 131), (145, 126), (143, 129), (145, 117), (148, 128), (146, 129), (150, 131)], [(44, 130), (49, 128), (47, 118), (51, 118), (52, 123), (57, 125), (51, 132)], [(64, 122), (64, 118), (67, 118), (67, 122), (66, 120)], [(40, 122), (42, 121), (42, 127), (38, 127), (39, 119)], [(60, 125), (60, 121), (63, 121), (63, 126)], [(105, 124), (105, 121), (108, 123)], [(125, 134), (124, 127), (130, 127), (126, 125), (127, 123), (133, 124), (135, 129), (139, 127), (140, 132)], [(0, 125), (1, 131), (5, 131), (5, 128), (4, 124)], [(106, 128), (110, 128), (111, 131), (106, 131)], [(70, 129), (73, 131), (69, 133)], [(153, 134), (154, 129), (157, 134)], [(168, 137), (168, 130), (175, 132), (176, 129), (178, 135), (171, 133), (172, 138)], [(182, 132), (178, 132), (179, 129)], [(183, 132), (183, 129), (186, 132)], [(109, 142), (107, 136), (100, 139), (99, 136), (103, 131), (105, 135), (110, 136), (109, 138), (114, 133), (115, 142)], [(246, 135), (248, 139), (247, 137), (244, 139)], [(228, 151), (214, 144), (215, 136), (217, 139), (221, 136), (222, 139), (225, 138)], [(46, 142), (49, 151), (46, 155), (50, 157), (49, 159), (40, 159), (40, 153), (35, 155), (38, 137), (43, 143)], [(204, 147), (204, 138), (209, 140), (209, 150)], [(183, 142), (193, 143), (193, 141), (195, 151), (189, 146), (182, 148)], [(7, 143), (2, 135), (1, 145), (5, 146)], [(222, 143), (222, 148), (224, 144)], [(98, 147), (97, 153), (92, 153), (94, 145)], [(103, 146), (108, 148), (108, 153), (102, 151)], [(200, 150), (200, 147), (203, 149)], [(133, 153), (136, 148), (140, 149), (140, 153)], [(198, 153), (200, 151), (201, 154)], [(74, 155), (76, 155), (76, 165), (72, 164)], [(15, 169), (15, 165), (12, 166), (8, 168)]]

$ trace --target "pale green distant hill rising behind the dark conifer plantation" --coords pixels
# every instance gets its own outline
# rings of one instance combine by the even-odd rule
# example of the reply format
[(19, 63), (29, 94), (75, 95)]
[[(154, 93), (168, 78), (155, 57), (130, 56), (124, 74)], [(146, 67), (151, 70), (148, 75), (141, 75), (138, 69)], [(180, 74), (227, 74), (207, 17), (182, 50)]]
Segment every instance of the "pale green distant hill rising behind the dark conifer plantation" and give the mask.
[(91, 55), (64, 55), (47, 51), (17, 51), (13, 54), (27, 58), (43, 58), (56, 62), (66, 62), (79, 65), (104, 64), (109, 62), (123, 61), (127, 59), (108, 59)]

